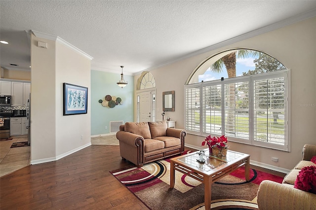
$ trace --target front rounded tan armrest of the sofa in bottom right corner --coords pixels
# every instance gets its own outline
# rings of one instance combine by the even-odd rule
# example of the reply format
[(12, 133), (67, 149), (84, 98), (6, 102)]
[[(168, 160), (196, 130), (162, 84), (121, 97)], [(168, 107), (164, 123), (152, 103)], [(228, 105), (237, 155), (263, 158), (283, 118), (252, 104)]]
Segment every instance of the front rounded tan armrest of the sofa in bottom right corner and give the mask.
[(264, 180), (259, 186), (257, 204), (259, 210), (315, 210), (316, 194)]

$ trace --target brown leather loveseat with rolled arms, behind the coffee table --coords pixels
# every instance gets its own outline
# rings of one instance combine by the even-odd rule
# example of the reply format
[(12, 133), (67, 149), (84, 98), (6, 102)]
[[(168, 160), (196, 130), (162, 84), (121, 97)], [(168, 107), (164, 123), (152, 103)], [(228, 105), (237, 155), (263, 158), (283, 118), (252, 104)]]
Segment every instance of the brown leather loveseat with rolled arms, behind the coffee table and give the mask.
[(117, 132), (120, 156), (142, 167), (145, 163), (184, 151), (186, 131), (167, 128), (165, 121), (126, 122)]

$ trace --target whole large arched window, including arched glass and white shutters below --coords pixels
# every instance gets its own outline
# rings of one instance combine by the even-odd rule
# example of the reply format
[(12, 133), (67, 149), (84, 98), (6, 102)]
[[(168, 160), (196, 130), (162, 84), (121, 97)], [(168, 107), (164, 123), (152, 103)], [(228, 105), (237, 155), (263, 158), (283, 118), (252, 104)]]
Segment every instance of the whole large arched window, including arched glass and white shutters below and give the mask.
[(185, 85), (185, 129), (289, 151), (289, 73), (256, 50), (228, 50), (205, 59)]

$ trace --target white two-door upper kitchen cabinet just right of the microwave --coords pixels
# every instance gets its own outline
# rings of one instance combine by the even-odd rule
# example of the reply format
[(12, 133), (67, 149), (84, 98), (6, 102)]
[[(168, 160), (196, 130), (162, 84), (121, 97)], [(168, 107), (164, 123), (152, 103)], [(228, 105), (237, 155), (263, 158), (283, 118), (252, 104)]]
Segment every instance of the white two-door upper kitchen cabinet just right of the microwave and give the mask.
[(26, 106), (30, 93), (31, 93), (31, 83), (12, 81), (11, 82), (12, 106)]

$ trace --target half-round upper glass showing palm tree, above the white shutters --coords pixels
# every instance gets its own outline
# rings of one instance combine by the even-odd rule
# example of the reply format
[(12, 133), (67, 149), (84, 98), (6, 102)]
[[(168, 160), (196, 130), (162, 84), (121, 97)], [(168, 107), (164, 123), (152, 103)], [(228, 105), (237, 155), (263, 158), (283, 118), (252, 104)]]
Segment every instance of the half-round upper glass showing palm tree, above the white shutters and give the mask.
[(235, 49), (211, 56), (192, 72), (187, 84), (286, 69), (272, 56), (250, 49)]

